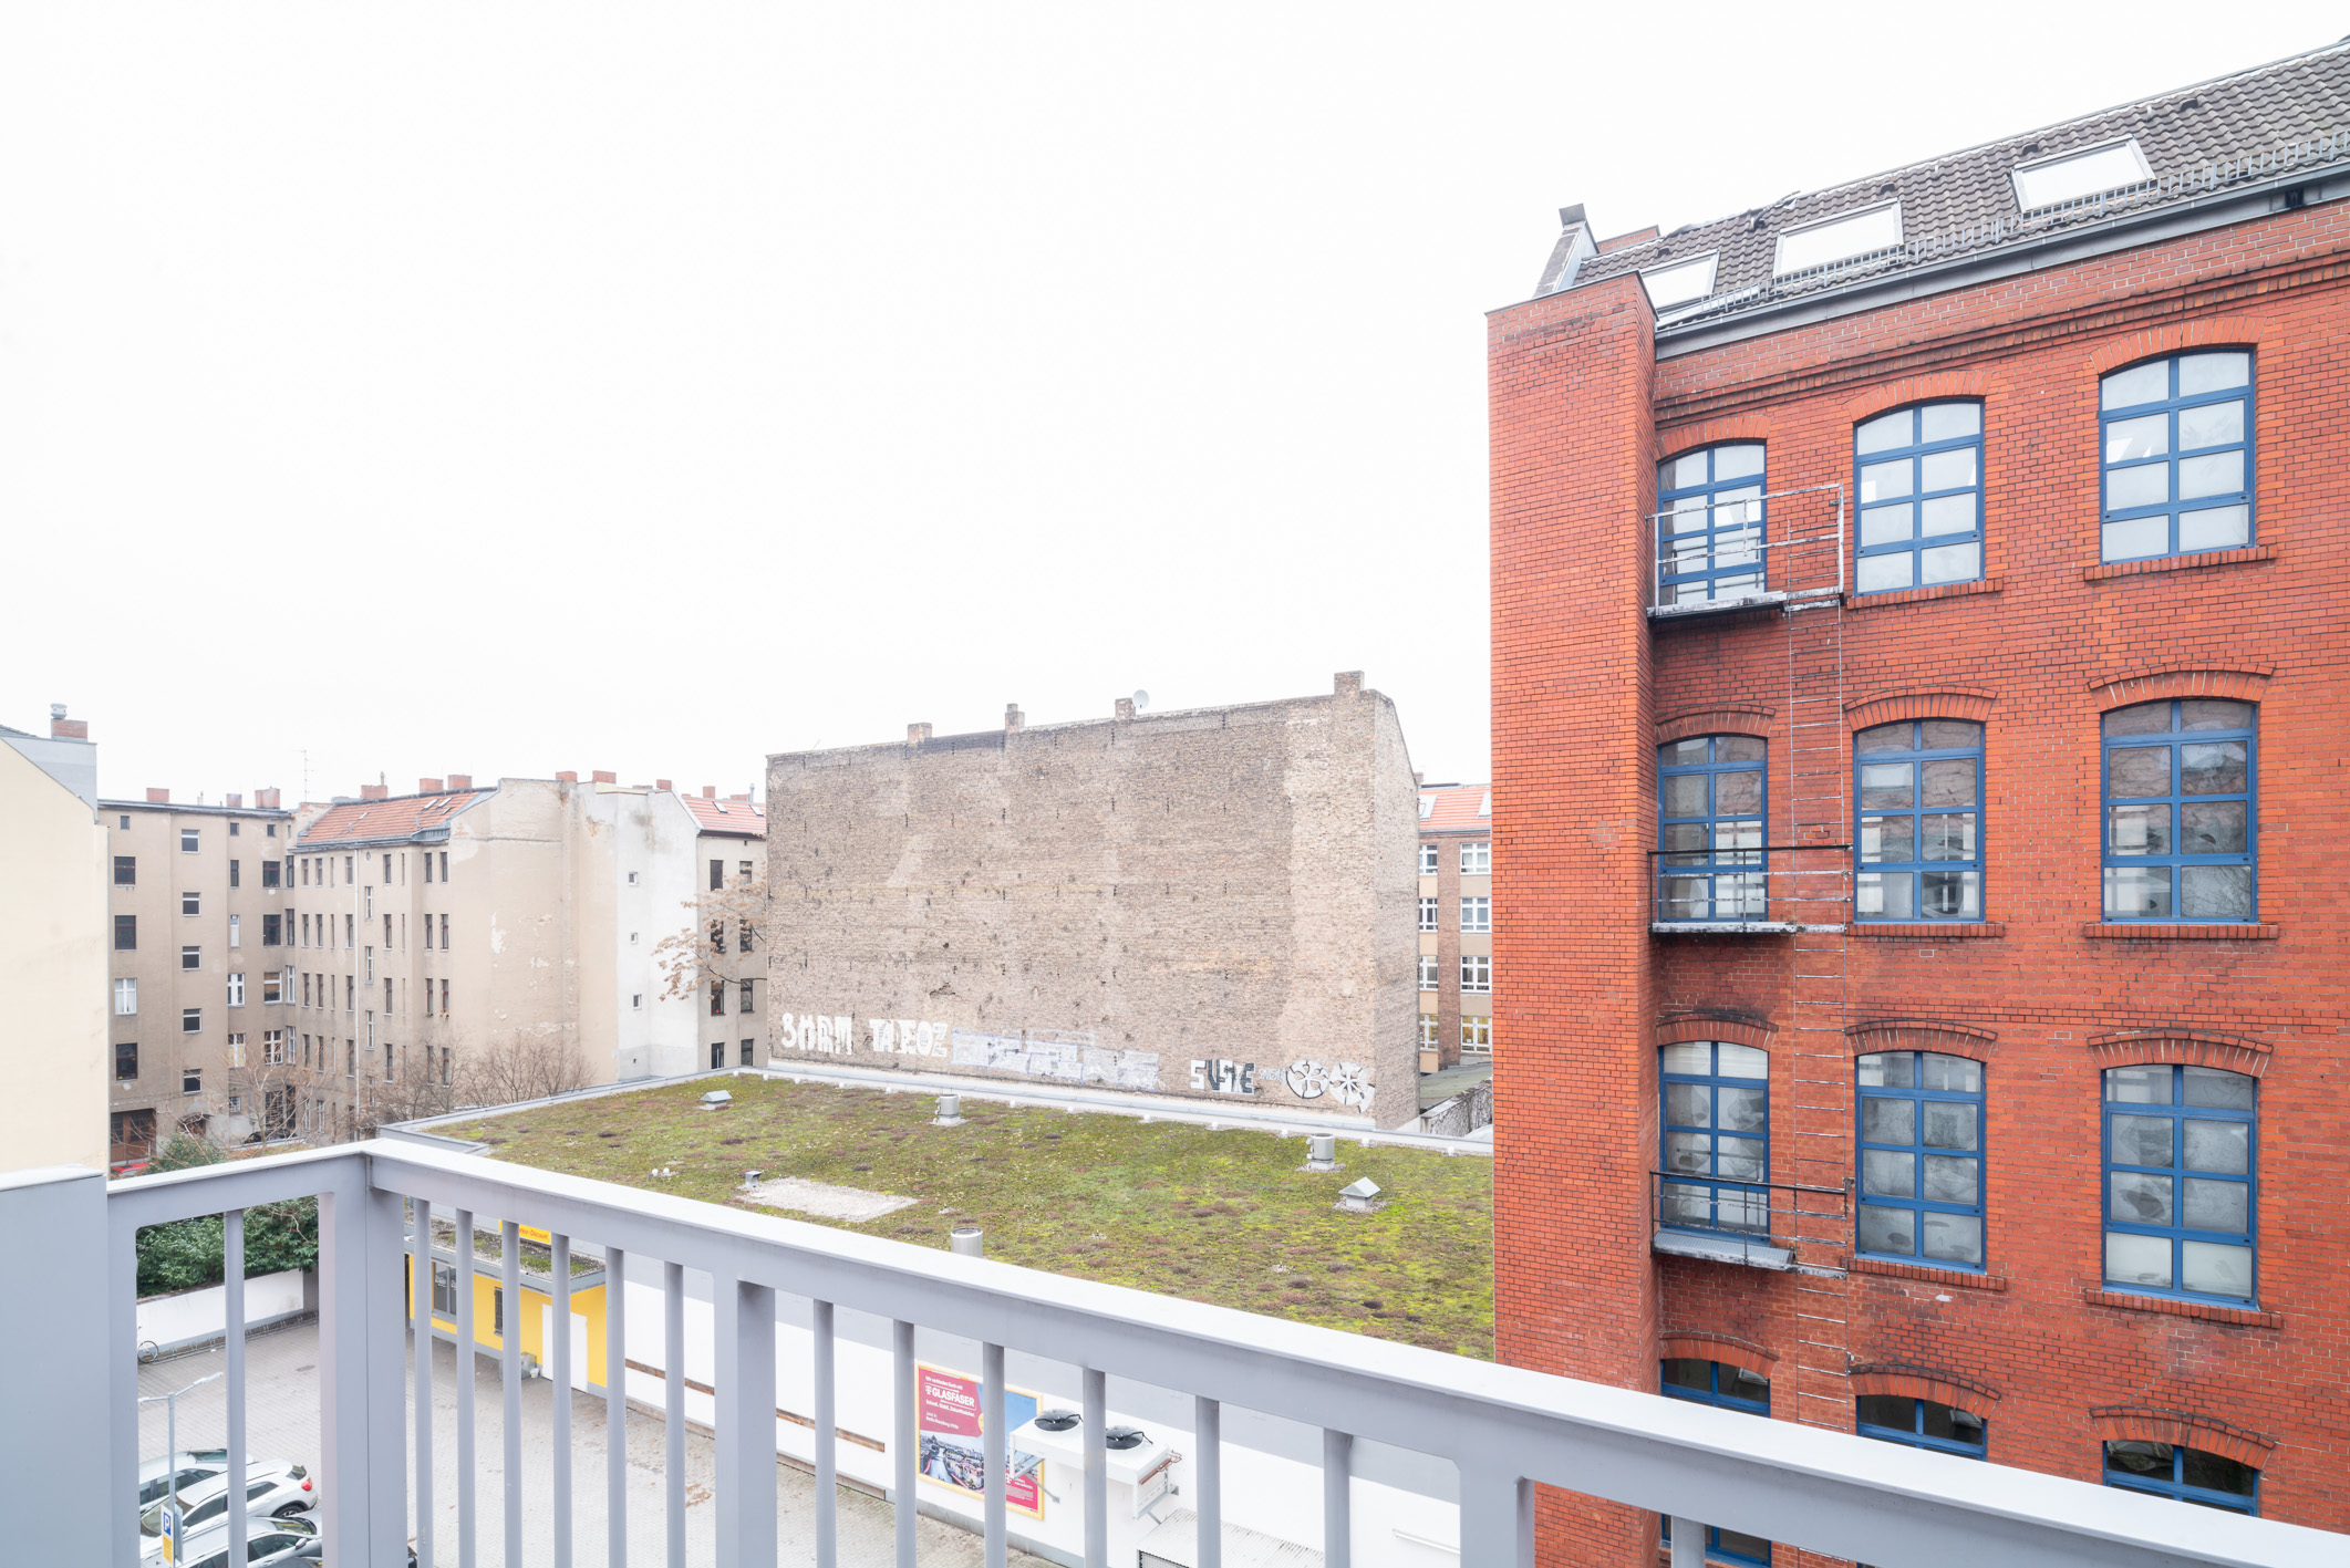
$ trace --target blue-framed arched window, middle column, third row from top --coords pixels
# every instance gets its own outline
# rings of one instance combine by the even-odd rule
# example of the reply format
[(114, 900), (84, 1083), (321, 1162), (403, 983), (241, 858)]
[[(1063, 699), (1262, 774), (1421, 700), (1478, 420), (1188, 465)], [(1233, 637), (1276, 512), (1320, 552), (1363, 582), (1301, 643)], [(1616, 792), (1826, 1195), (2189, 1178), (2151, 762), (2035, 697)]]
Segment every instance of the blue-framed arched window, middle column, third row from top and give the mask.
[(1861, 1251), (1983, 1267), (1983, 1065), (1880, 1051), (1859, 1058), (1856, 1077)]

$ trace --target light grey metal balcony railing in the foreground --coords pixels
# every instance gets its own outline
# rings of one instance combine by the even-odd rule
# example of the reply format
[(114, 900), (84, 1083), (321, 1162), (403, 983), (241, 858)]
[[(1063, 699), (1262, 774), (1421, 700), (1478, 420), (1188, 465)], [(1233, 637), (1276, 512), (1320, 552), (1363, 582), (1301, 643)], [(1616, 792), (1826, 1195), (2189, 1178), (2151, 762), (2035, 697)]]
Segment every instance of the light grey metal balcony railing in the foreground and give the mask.
[[(1676, 1516), (1676, 1563), (1694, 1563), (1704, 1526), (1723, 1526), (1831, 1556), (1892, 1568), (1899, 1563), (2000, 1561), (2047, 1563), (2341, 1563), (2343, 1537), (2261, 1519), (2235, 1519), (2169, 1500), (2141, 1497), (2047, 1474), (2007, 1469), (1875, 1443), (1798, 1422), (1711, 1410), (1657, 1394), (1492, 1366), (1410, 1345), (1394, 1345), (1285, 1319), (1255, 1316), (1144, 1291), (1043, 1274), (982, 1258), (881, 1241), (874, 1237), (752, 1215), (660, 1192), (529, 1171), (503, 1161), (407, 1143), (364, 1143), (280, 1154), (202, 1171), (146, 1175), (103, 1185), (94, 1173), (42, 1171), (0, 1178), (0, 1234), (16, 1262), (38, 1262), (42, 1291), (0, 1293), (0, 1333), (12, 1347), (7, 1448), (0, 1450), (0, 1502), (9, 1514), (12, 1561), (47, 1568), (136, 1563), (134, 1493), (141, 1462), (136, 1415), (134, 1239), (141, 1225), (193, 1215), (228, 1215), (228, 1462), (242, 1474), (244, 1366), (240, 1291), (240, 1215), (256, 1204), (320, 1199), (320, 1361), (324, 1554), (338, 1568), (397, 1568), (411, 1530), (409, 1422), (414, 1392), (416, 1559), (470, 1563), (468, 1542), (498, 1514), (505, 1561), (522, 1552), (522, 1465), (515, 1389), (519, 1335), (508, 1335), (508, 1420), (503, 1509), (484, 1509), (472, 1488), (472, 1434), (439, 1432), (432, 1418), (432, 1363), (407, 1368), (404, 1258), (432, 1246), (432, 1220), (454, 1218), (468, 1237), (475, 1215), (505, 1227), (501, 1272), (517, 1302), (515, 1225), (552, 1232), (550, 1286), (562, 1291), (562, 1262), (573, 1237), (604, 1248), (611, 1279), (627, 1255), (665, 1265), (670, 1347), (679, 1328), (674, 1302), (684, 1269), (707, 1272), (714, 1307), (717, 1561), (766, 1568), (778, 1556), (776, 1420), (778, 1295), (806, 1298), (813, 1366), (813, 1432), (834, 1432), (834, 1314), (872, 1314), (893, 1328), (895, 1561), (914, 1563), (914, 1331), (947, 1328), (982, 1345), (987, 1394), (987, 1472), (1003, 1474), (1003, 1356), (1027, 1352), (1079, 1368), (1090, 1420), (1102, 1432), (1104, 1380), (1175, 1389), (1194, 1403), (1194, 1472), (1187, 1502), (1198, 1514), (1201, 1563), (1220, 1563), (1222, 1519), (1220, 1415), (1231, 1403), (1304, 1422), (1323, 1432), (1323, 1561), (1358, 1561), (1349, 1540), (1349, 1460), (1354, 1443), (1375, 1441), (1448, 1460), (1459, 1472), (1459, 1561), (1476, 1568), (1525, 1568), (1535, 1561), (1535, 1486), (1607, 1497)], [(414, 1204), (414, 1211), (409, 1208)], [(416, 1225), (409, 1225), (414, 1213)], [(446, 1232), (444, 1232), (446, 1234)], [(28, 1274), (19, 1269), (19, 1279)], [(49, 1284), (54, 1281), (54, 1291)], [(430, 1291), (432, 1269), (416, 1269)], [(470, 1291), (458, 1293), (470, 1300)], [(430, 1302), (418, 1300), (418, 1316)], [(512, 1312), (512, 1309), (510, 1309)], [(606, 1316), (606, 1354), (623, 1349), (623, 1328)], [(557, 1324), (564, 1319), (557, 1316)], [(461, 1324), (461, 1342), (470, 1335)], [(797, 1340), (794, 1340), (797, 1342)], [(571, 1563), (569, 1519), (578, 1502), (595, 1509), (602, 1490), (611, 1563), (627, 1561), (623, 1528), (623, 1446), (609, 1448), (602, 1483), (571, 1474), (566, 1335), (555, 1356), (555, 1535), (552, 1561)], [(679, 1361), (670, 1361), (679, 1366)], [(465, 1396), (470, 1378), (458, 1380)], [(611, 1378), (623, 1399), (625, 1378)], [(677, 1382), (672, 1380), (674, 1389)], [(78, 1396), (75, 1396), (78, 1392)], [(618, 1413), (616, 1413), (618, 1415)], [(672, 1399), (667, 1486), (682, 1488)], [(618, 1429), (618, 1427), (613, 1427)], [(435, 1533), (432, 1448), (454, 1441), (463, 1458), (458, 1540)], [(103, 1453), (99, 1453), (99, 1450)], [(1107, 1568), (1104, 1450), (1081, 1443), (1083, 1561)], [(832, 1568), (832, 1450), (815, 1443), (815, 1561)], [(1248, 1450), (1234, 1450), (1248, 1453)], [(576, 1490), (578, 1488), (578, 1490)], [(592, 1514), (590, 1514), (592, 1516)], [(235, 1519), (235, 1514), (233, 1514)], [(665, 1561), (682, 1563), (679, 1514)], [(1683, 1547), (1692, 1556), (1683, 1554)], [(531, 1542), (533, 1554), (540, 1542)], [(1363, 1561), (1370, 1561), (1365, 1542)], [(985, 1497), (985, 1556), (1006, 1559), (1006, 1497)], [(230, 1561), (242, 1552), (233, 1549)]]

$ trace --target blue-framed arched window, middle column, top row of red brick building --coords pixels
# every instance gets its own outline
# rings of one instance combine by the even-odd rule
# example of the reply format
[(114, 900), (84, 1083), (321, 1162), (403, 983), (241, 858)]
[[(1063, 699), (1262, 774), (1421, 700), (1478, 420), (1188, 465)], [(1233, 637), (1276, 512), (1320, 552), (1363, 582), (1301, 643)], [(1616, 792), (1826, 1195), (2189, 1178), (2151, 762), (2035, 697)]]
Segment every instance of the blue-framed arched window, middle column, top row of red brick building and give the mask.
[(1983, 404), (1927, 402), (1852, 433), (1856, 592), (1983, 576)]

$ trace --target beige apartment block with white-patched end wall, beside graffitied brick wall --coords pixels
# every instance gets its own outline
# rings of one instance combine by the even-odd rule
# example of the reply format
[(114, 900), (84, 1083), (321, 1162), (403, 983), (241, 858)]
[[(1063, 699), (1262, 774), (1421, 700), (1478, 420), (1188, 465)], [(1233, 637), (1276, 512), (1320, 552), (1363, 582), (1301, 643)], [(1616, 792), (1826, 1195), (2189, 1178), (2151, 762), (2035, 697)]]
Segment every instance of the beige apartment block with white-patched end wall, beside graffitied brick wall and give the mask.
[(754, 938), (731, 919), (726, 952), (696, 938), (684, 994), (656, 950), (707, 926), (710, 893), (757, 882), (761, 835), (747, 797), (613, 773), (303, 804), (284, 926), (303, 1114), (348, 1138), (446, 1103), (696, 1072), (705, 1037), (724, 1058), (757, 1037), (736, 1027), (761, 1001), (736, 952)]

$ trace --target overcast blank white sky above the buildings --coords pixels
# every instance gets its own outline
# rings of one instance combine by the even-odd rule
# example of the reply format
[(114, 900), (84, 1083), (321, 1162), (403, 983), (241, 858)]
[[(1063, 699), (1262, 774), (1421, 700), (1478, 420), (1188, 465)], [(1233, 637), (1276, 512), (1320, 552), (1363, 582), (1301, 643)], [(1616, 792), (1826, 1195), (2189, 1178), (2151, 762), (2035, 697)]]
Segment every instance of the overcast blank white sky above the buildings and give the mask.
[[(0, 724), (110, 795), (1325, 691), (1485, 776), (1483, 313), (2341, 5), (21, 5)], [(2188, 26), (2195, 21), (2195, 26)]]

